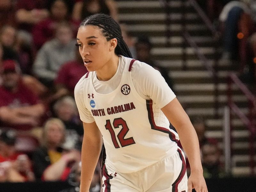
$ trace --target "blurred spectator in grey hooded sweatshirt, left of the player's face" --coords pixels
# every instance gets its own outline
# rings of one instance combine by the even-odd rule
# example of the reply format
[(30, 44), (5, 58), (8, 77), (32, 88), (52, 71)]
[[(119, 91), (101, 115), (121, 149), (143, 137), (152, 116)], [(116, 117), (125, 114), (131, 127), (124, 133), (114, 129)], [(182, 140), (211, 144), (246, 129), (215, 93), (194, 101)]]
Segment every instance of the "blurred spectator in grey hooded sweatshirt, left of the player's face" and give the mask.
[(41, 47), (34, 63), (36, 76), (48, 87), (52, 87), (60, 67), (76, 57), (76, 40), (67, 22), (57, 25), (55, 36)]

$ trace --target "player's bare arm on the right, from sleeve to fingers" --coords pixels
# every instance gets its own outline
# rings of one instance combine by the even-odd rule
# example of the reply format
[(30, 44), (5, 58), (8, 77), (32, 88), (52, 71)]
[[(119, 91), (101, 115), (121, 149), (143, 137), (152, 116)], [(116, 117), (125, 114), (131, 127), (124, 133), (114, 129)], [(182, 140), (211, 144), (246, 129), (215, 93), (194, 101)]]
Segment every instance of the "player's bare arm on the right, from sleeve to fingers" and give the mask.
[(203, 177), (198, 138), (187, 113), (177, 98), (174, 98), (161, 110), (177, 130), (182, 147), (188, 156), (191, 168), (191, 174), (188, 178), (188, 192), (192, 192), (192, 188), (195, 188), (196, 192), (208, 192)]

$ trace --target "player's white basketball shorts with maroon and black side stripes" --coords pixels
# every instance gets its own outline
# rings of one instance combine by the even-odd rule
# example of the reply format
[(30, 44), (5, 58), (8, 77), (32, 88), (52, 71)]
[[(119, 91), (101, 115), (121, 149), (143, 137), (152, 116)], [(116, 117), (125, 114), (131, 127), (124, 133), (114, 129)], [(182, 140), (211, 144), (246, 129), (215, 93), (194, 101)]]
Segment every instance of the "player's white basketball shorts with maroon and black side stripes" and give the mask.
[(138, 172), (118, 173), (103, 167), (103, 192), (187, 192), (188, 177), (183, 152), (177, 152)]

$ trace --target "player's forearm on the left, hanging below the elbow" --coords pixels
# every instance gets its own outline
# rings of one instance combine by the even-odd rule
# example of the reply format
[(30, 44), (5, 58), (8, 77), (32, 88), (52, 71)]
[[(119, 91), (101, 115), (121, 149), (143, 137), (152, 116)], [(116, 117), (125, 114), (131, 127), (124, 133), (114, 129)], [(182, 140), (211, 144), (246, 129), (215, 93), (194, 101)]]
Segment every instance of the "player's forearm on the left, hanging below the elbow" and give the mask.
[(92, 177), (99, 160), (102, 139), (92, 140), (84, 136), (82, 144), (82, 170), (80, 192), (89, 192)]

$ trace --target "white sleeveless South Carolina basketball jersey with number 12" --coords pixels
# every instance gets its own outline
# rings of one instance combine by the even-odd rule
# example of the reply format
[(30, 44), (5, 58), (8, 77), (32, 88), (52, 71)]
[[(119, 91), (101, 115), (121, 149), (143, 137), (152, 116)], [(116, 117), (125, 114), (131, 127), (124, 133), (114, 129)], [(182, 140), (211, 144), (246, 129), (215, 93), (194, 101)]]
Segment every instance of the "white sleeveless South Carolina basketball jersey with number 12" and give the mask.
[[(131, 77), (136, 60), (125, 58), (119, 86), (108, 94), (97, 93), (92, 72), (84, 76), (84, 103), (103, 136), (106, 166), (130, 173), (177, 152), (178, 134), (152, 100), (140, 97)], [(145, 64), (146, 65), (146, 64)]]

